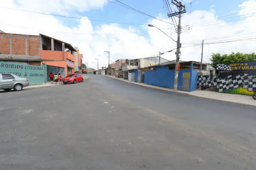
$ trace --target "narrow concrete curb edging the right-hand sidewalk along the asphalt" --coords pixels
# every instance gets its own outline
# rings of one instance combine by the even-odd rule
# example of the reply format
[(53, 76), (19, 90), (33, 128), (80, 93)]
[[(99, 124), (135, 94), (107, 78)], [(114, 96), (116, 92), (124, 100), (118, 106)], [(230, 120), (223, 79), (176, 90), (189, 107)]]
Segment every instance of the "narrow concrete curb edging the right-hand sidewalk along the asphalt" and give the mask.
[(180, 91), (180, 90), (173, 90), (173, 89), (168, 89), (168, 88), (164, 88), (164, 87), (158, 87), (158, 86), (154, 86), (154, 85), (144, 85), (141, 83), (136, 83), (136, 82), (129, 82), (120, 78), (116, 78), (116, 77), (112, 77), (112, 76), (108, 76), (105, 75), (106, 77), (110, 77), (112, 79), (116, 79), (116, 80), (120, 80), (126, 83), (131, 83), (134, 85), (140, 85), (140, 86), (144, 86), (144, 87), (148, 87), (148, 88), (154, 88), (154, 89), (158, 89), (158, 90), (164, 90), (164, 91), (169, 91), (169, 92), (175, 92), (175, 93), (180, 93), (180, 94), (187, 94), (190, 96), (195, 96), (195, 97), (200, 97), (200, 98), (205, 98), (205, 99), (212, 99), (212, 100), (217, 100), (217, 101), (223, 101), (223, 102), (231, 102), (231, 103), (237, 103), (237, 104), (243, 104), (243, 105), (249, 105), (249, 106), (256, 106), (256, 102), (255, 104), (249, 104), (249, 103), (243, 103), (243, 102), (235, 102), (235, 101), (226, 101), (226, 100), (221, 100), (221, 99), (215, 99), (215, 98), (209, 98), (207, 96), (201, 96), (201, 95), (197, 95), (197, 94), (193, 94), (191, 92), (186, 92), (186, 91)]

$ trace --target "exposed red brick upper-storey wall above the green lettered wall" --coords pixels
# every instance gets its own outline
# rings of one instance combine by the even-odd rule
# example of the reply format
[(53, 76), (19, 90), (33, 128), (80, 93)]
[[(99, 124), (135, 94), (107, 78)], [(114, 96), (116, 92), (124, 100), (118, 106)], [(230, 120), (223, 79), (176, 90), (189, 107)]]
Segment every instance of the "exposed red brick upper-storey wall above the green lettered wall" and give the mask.
[[(39, 36), (21, 34), (0, 33), (0, 53), (10, 54), (10, 35), (12, 35), (12, 53), (14, 55), (25, 55), (27, 38), (27, 55), (39, 55)], [(36, 38), (36, 39), (29, 39)]]

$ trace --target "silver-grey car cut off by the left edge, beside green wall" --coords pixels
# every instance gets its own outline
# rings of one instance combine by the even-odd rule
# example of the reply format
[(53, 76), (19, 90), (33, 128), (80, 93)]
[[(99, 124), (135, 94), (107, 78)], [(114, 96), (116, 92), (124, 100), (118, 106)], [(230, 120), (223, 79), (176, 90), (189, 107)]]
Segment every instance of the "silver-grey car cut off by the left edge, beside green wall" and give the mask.
[(0, 90), (10, 91), (14, 89), (15, 91), (20, 91), (28, 85), (29, 82), (26, 78), (9, 73), (0, 73)]

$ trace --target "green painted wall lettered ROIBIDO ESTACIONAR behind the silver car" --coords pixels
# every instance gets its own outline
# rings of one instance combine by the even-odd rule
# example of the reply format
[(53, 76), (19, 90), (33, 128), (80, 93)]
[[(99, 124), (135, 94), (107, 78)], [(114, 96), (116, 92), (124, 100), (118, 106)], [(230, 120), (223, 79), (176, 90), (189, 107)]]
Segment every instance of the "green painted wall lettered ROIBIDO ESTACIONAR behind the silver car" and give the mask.
[(0, 73), (12, 73), (27, 78), (30, 85), (45, 83), (46, 65), (32, 66), (11, 62), (0, 62)]

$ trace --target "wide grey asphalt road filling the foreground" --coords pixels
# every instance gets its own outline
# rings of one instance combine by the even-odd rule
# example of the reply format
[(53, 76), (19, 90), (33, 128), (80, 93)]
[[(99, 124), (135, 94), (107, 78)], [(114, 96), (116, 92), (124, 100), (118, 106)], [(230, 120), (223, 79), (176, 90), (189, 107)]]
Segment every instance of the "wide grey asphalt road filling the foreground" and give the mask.
[(99, 75), (0, 91), (0, 170), (256, 170), (256, 107)]

